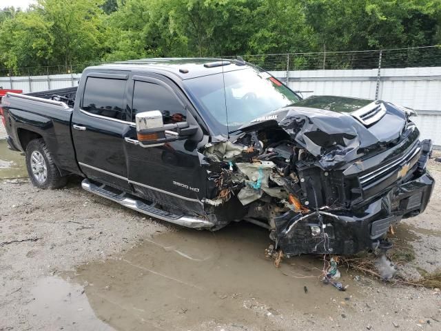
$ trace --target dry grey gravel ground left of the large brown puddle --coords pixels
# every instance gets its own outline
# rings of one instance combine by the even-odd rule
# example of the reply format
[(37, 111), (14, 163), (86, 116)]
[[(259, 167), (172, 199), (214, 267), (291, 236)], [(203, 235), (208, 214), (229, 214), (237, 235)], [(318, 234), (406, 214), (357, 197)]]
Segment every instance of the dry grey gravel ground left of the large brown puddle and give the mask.
[[(0, 183), (0, 330), (43, 328), (27, 304), (41, 277), (74, 270), (129, 250), (139, 239), (174, 230), (142, 214), (95, 197), (74, 179), (62, 190), (40, 190), (27, 180)], [(34, 321), (35, 322), (35, 321)]]

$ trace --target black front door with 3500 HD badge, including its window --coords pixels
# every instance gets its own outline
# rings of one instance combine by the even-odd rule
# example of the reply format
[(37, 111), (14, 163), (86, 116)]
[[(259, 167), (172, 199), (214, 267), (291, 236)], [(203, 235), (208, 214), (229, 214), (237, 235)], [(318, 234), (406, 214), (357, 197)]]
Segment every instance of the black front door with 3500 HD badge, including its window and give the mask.
[[(185, 107), (185, 97), (172, 81), (134, 76), (132, 83), (133, 122), (136, 113), (149, 110), (161, 111), (164, 124), (188, 121), (191, 114)], [(136, 140), (135, 128), (131, 129), (130, 137)], [(206, 172), (200, 166), (197, 140), (189, 137), (148, 148), (127, 142), (129, 183), (147, 199), (202, 212), (200, 200), (205, 196)]]

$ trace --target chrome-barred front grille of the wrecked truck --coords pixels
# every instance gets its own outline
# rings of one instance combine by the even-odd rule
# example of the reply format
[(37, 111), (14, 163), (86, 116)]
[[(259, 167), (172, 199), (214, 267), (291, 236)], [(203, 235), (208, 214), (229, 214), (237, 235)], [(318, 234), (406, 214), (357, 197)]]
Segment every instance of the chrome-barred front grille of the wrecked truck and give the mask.
[[(413, 158), (416, 157), (416, 155), (420, 151), (421, 151), (420, 146), (415, 146), (399, 159), (391, 161), (386, 165), (382, 165), (382, 167), (377, 168), (376, 170), (373, 170), (371, 172), (368, 172), (367, 174), (363, 174), (362, 176), (359, 177), (362, 188), (367, 188), (372, 183), (377, 183), (378, 181), (382, 181), (383, 179), (388, 178), (389, 176), (391, 176), (391, 174), (397, 172), (397, 170), (400, 170), (402, 168), (402, 165), (406, 165), (407, 163), (412, 161)], [(418, 159), (414, 161), (415, 162), (409, 165), (409, 169), (412, 168), (412, 166), (416, 163), (416, 161), (418, 161)]]

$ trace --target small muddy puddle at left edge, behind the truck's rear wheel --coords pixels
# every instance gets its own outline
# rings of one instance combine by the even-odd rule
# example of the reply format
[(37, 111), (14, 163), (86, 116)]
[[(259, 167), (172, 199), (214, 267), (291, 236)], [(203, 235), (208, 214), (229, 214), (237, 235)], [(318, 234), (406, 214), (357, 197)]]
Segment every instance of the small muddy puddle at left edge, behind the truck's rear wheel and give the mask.
[(28, 177), (25, 157), (8, 149), (6, 140), (0, 140), (0, 179)]

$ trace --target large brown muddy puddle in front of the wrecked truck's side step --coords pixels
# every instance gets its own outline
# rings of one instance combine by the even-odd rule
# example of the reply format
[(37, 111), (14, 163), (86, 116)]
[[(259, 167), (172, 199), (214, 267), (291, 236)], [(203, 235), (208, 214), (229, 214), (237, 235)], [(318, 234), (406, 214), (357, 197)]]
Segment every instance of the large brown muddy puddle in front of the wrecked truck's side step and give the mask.
[(349, 290), (339, 292), (318, 281), (318, 259), (292, 258), (276, 269), (264, 257), (268, 244), (268, 232), (249, 224), (167, 232), (70, 276), (86, 284), (90, 316), (116, 330), (291, 330), (294, 317), (340, 316), (350, 295), (342, 305), (356, 311), (349, 277), (341, 280)]

